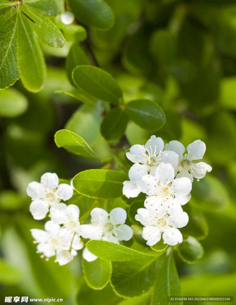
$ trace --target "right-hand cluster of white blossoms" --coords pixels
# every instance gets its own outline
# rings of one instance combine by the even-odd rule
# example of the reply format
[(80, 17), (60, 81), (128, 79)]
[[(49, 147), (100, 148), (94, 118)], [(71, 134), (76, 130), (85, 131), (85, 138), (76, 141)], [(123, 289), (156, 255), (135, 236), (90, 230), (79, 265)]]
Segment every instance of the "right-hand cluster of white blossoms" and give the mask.
[(130, 181), (123, 183), (123, 194), (128, 198), (140, 192), (147, 194), (145, 208), (137, 210), (135, 219), (144, 225), (142, 237), (149, 246), (159, 242), (161, 236), (171, 246), (182, 242), (177, 228), (186, 226), (189, 220), (182, 205), (191, 199), (193, 178), (199, 181), (212, 170), (204, 162), (195, 163), (203, 158), (204, 142), (196, 140), (185, 151), (179, 141), (170, 141), (164, 148), (163, 140), (152, 135), (145, 145), (133, 145), (126, 153), (135, 164), (129, 171)]

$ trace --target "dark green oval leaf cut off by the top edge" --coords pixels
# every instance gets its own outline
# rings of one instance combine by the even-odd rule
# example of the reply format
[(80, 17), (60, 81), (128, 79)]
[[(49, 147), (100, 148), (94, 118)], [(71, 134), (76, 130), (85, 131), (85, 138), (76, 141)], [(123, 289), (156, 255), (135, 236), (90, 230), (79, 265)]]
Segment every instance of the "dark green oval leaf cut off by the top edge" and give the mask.
[(111, 8), (103, 0), (69, 0), (76, 18), (98, 30), (109, 30), (115, 20)]

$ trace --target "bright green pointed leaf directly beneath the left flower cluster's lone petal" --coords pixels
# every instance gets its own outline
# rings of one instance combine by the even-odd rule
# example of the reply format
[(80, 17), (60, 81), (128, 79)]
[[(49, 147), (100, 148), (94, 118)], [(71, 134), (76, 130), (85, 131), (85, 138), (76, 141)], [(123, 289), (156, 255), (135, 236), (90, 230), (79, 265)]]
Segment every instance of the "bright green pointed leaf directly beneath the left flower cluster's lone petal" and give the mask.
[(90, 240), (87, 242), (86, 247), (89, 252), (102, 260), (111, 260), (113, 262), (148, 258), (146, 254), (139, 251), (104, 240)]

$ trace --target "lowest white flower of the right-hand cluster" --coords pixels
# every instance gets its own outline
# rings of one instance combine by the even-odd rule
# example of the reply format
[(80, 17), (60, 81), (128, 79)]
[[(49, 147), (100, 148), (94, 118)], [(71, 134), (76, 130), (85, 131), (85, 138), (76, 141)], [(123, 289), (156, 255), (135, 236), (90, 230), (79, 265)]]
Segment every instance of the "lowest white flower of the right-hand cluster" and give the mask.
[(189, 221), (188, 214), (183, 212), (176, 216), (170, 216), (165, 213), (157, 214), (154, 209), (138, 209), (135, 219), (143, 224), (144, 230), (142, 237), (147, 240), (147, 245), (153, 246), (161, 239), (161, 233), (164, 243), (175, 246), (182, 242), (183, 237), (177, 228), (186, 226)]

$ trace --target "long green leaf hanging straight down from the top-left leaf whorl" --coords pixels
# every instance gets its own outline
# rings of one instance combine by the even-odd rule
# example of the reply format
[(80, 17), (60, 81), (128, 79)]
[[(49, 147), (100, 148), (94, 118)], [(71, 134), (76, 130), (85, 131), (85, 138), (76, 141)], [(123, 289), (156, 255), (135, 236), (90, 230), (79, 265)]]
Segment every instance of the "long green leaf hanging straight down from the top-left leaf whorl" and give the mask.
[(47, 76), (43, 52), (36, 41), (30, 20), (18, 9), (17, 59), (20, 78), (30, 92), (42, 90)]

